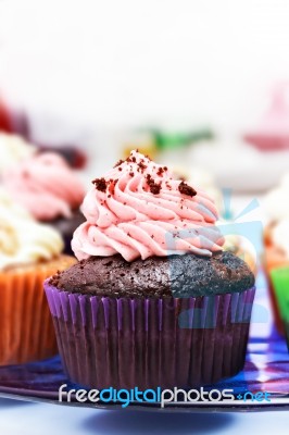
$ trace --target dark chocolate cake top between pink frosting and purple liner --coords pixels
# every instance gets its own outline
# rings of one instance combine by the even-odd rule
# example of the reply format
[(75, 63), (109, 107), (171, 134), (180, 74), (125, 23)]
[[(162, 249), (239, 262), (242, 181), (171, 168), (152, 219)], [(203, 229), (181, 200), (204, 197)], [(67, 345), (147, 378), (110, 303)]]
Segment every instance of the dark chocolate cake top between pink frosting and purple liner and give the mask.
[(197, 297), (237, 293), (254, 285), (248, 265), (231, 252), (192, 253), (127, 262), (120, 254), (90, 257), (55, 274), (50, 284), (77, 294), (110, 297)]

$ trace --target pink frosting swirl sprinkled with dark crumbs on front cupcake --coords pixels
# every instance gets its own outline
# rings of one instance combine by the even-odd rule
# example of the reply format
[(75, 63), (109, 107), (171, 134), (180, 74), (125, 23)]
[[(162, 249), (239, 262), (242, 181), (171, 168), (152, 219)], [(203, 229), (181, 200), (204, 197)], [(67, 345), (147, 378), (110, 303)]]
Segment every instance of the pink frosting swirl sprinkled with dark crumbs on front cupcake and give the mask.
[(83, 203), (87, 222), (72, 240), (78, 260), (115, 253), (126, 261), (187, 252), (210, 257), (222, 249), (213, 200), (139, 152), (92, 183)]

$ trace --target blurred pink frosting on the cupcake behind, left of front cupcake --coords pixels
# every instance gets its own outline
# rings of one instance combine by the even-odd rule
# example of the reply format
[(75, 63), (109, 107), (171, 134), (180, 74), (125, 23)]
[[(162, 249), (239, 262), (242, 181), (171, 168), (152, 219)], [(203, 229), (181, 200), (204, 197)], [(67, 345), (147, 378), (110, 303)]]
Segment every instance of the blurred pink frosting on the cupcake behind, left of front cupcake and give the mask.
[(9, 169), (3, 183), (35, 219), (71, 217), (85, 197), (81, 182), (56, 153), (46, 152)]

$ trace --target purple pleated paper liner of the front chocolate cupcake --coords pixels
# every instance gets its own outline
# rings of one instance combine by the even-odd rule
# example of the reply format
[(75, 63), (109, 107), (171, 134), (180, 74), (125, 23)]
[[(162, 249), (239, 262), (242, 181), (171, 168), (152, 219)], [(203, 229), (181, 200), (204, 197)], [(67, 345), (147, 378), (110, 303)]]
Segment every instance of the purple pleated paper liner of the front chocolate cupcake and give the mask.
[(64, 369), (79, 385), (190, 388), (243, 368), (254, 287), (184, 299), (45, 289)]

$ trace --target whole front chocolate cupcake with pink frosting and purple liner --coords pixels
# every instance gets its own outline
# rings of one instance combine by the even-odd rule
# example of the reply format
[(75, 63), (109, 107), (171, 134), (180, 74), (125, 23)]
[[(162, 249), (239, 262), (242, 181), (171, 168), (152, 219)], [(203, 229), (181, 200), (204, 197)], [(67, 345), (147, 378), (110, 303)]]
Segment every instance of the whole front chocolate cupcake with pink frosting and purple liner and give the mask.
[(254, 298), (213, 201), (133, 151), (85, 198), (79, 262), (46, 282), (64, 368), (88, 387), (189, 388), (243, 366)]

